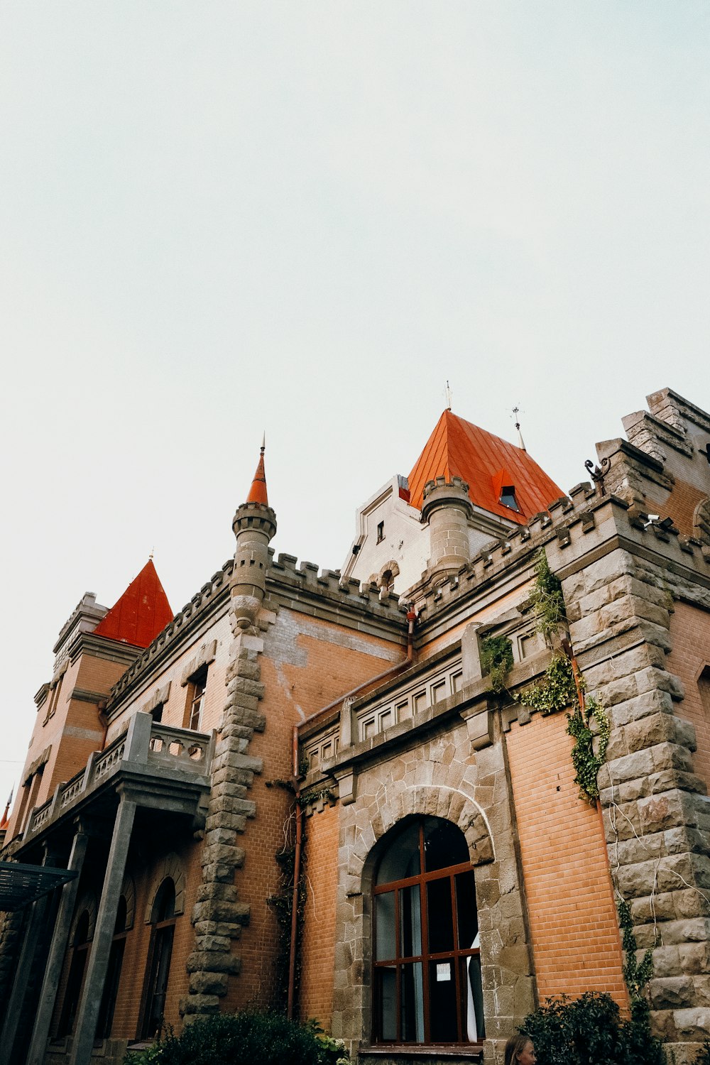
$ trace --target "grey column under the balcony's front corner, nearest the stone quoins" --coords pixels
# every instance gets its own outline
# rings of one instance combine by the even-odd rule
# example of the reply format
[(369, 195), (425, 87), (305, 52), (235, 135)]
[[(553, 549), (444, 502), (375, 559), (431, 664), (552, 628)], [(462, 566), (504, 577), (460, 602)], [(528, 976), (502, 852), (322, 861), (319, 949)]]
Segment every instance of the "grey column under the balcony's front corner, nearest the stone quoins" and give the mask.
[(77, 1016), (70, 1065), (89, 1065), (135, 810), (136, 803), (121, 791), (96, 918), (94, 941), (86, 967), (84, 993)]

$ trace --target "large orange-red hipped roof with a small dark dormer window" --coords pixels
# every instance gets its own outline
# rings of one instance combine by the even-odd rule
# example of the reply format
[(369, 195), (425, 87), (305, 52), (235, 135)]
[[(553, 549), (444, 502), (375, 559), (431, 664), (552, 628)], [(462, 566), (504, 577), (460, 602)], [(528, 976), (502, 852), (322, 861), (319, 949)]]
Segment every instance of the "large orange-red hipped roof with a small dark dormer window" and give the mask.
[[(472, 503), (519, 524), (564, 494), (522, 447), (465, 422), (450, 410), (439, 419), (409, 475), (413, 507), (422, 509), (424, 486), (436, 477), (463, 478)], [(511, 486), (519, 511), (499, 502), (502, 489)]]

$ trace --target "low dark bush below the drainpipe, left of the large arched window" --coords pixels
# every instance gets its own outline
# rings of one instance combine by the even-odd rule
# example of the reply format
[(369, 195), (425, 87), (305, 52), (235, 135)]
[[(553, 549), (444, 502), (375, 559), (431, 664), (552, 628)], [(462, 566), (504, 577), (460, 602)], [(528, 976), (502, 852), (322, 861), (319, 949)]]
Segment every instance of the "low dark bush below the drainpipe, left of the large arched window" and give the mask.
[(299, 1025), (267, 1013), (215, 1014), (166, 1035), (125, 1065), (337, 1065), (343, 1045), (311, 1021)]

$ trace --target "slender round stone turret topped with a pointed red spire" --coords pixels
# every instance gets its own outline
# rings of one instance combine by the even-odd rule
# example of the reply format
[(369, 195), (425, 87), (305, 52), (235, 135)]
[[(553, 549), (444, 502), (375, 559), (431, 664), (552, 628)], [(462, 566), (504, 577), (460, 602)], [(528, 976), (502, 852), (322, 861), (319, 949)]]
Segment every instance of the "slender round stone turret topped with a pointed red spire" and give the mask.
[(268, 544), (276, 532), (276, 514), (268, 505), (264, 473), (264, 442), (247, 502), (236, 508), (232, 528), (236, 537), (232, 574), (232, 624), (242, 630), (255, 628), (264, 599)]

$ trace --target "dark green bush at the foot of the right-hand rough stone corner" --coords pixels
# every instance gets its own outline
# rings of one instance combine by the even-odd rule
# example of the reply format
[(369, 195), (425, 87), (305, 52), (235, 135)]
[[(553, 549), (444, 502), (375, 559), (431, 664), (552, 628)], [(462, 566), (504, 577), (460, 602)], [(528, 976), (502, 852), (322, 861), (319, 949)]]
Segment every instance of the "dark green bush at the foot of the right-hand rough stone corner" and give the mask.
[(532, 1039), (540, 1065), (664, 1065), (660, 1042), (650, 1034), (648, 1007), (637, 1003), (622, 1020), (610, 995), (587, 992), (571, 1001), (548, 999), (521, 1026)]

